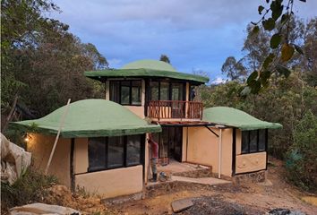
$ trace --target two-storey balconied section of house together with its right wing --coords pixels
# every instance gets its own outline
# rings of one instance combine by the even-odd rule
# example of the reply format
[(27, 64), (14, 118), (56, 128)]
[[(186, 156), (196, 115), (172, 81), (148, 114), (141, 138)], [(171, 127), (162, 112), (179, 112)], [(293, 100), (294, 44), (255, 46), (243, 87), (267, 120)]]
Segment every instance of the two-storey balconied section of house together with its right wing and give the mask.
[(105, 84), (106, 99), (162, 126), (162, 133), (153, 135), (160, 163), (173, 159), (201, 164), (227, 178), (267, 168), (267, 129), (281, 125), (230, 107), (203, 109), (201, 101), (194, 100), (194, 87), (208, 78), (179, 73), (156, 60), (85, 75)]

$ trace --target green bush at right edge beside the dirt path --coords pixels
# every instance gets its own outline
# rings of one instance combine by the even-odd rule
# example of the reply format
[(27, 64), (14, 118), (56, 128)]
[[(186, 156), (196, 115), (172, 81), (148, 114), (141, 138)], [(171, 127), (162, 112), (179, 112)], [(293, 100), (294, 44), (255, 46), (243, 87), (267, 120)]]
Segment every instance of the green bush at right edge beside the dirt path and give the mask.
[(317, 192), (317, 116), (308, 111), (296, 125), (294, 144), (287, 152), (287, 178)]

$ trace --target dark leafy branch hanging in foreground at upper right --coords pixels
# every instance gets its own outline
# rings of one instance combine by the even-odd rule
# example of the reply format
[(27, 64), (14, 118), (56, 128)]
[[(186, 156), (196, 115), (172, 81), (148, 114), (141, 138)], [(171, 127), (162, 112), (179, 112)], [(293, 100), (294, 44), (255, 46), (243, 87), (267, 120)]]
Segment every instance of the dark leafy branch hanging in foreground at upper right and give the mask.
[[(305, 0), (299, 1), (305, 2)], [(287, 68), (287, 62), (292, 59), (295, 52), (300, 55), (304, 54), (300, 46), (289, 42), (288, 39), (290, 21), (294, 15), (294, 0), (287, 0), (286, 4), (283, 4), (283, 0), (266, 0), (266, 3), (267, 8), (263, 5), (258, 7), (261, 19), (251, 23), (253, 24), (253, 35), (259, 33), (260, 27), (271, 34), (270, 54), (265, 57), (260, 67), (249, 75), (246, 81), (247, 86), (242, 94), (258, 93), (261, 88), (267, 87), (272, 73), (288, 77), (291, 72)]]

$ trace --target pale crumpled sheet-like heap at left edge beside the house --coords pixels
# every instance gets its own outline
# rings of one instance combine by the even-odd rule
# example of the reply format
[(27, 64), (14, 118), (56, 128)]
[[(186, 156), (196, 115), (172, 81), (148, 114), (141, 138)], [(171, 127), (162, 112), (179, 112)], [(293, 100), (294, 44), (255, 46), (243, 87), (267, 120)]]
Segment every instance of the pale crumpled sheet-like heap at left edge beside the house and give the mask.
[(31, 154), (13, 142), (8, 141), (1, 133), (1, 182), (10, 185), (30, 166)]

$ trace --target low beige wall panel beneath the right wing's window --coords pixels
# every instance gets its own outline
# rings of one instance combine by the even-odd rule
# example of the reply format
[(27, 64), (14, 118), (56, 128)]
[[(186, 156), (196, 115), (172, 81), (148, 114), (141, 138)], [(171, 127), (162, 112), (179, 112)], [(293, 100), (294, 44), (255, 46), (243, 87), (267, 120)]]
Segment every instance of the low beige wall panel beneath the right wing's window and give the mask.
[(266, 168), (265, 151), (236, 156), (236, 173), (259, 171)]

